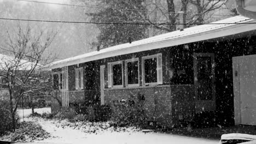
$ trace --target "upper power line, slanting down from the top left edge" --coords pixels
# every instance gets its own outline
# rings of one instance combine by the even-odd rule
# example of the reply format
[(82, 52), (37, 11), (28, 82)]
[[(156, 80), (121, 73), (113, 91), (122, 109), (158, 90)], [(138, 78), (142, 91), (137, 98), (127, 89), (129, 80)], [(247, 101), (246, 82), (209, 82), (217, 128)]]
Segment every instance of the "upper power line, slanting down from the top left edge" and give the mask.
[(33, 2), (33, 3), (44, 3), (44, 4), (57, 4), (57, 5), (65, 5), (65, 6), (72, 6), (72, 7), (87, 7), (87, 8), (97, 8), (97, 9), (126, 10), (126, 11), (144, 11), (144, 12), (166, 13), (166, 14), (234, 16), (234, 15), (218, 15), (218, 14), (177, 13), (177, 12), (155, 11), (155, 10), (141, 10), (141, 9), (106, 8), (106, 7), (97, 7), (97, 6), (92, 6), (92, 5), (75, 5), (75, 4), (64, 4), (64, 3), (50, 3), (50, 2), (40, 2), (40, 1), (28, 1), (28, 0), (17, 0), (17, 1)]

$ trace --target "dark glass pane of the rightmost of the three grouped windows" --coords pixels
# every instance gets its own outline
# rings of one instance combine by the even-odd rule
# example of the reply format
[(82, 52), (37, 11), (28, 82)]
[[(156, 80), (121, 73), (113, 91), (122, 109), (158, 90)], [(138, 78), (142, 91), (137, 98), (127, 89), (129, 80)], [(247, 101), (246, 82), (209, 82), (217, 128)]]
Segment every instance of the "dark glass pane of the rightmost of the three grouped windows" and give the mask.
[(145, 82), (158, 82), (156, 57), (144, 60)]

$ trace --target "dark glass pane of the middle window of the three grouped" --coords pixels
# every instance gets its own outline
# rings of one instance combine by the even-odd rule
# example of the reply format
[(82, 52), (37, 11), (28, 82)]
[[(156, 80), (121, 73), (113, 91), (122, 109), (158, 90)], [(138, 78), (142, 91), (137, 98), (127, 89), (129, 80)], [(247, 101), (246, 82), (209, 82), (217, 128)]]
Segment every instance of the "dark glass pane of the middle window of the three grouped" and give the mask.
[(138, 84), (138, 61), (127, 62), (128, 84)]

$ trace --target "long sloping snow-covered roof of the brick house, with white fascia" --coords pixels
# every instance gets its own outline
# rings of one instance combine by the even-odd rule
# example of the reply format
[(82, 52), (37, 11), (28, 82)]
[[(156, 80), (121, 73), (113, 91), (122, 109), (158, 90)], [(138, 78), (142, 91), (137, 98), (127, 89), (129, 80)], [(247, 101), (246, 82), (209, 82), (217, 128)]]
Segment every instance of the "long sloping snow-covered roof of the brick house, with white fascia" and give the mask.
[[(68, 65), (95, 61), (102, 58), (188, 44), (196, 41), (221, 38), (232, 34), (253, 31), (256, 29), (256, 24), (250, 24), (250, 22), (256, 22), (256, 20), (243, 16), (234, 16), (228, 19), (208, 23), (206, 25), (185, 28), (184, 31), (173, 31), (147, 39), (132, 41), (131, 44), (126, 43), (116, 45), (100, 51), (93, 51), (83, 55), (62, 59), (61, 61), (49, 64), (48, 67), (50, 69), (61, 68)], [(241, 25), (241, 23), (244, 24)]]

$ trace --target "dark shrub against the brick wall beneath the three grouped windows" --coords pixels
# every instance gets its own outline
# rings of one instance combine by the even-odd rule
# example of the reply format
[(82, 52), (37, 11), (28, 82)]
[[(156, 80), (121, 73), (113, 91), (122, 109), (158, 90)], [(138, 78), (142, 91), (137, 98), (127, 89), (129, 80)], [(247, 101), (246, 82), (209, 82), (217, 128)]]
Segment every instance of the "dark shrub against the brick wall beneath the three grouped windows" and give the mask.
[(141, 126), (145, 123), (143, 110), (144, 99), (131, 95), (127, 100), (114, 101), (112, 107), (112, 121), (119, 127)]

